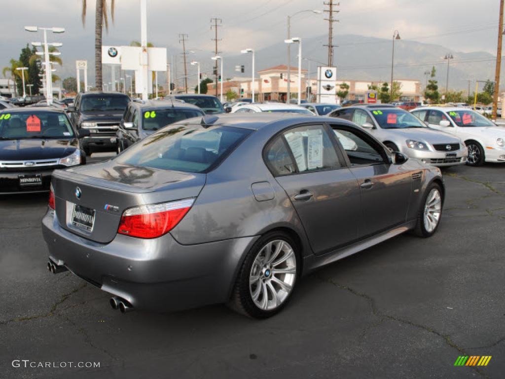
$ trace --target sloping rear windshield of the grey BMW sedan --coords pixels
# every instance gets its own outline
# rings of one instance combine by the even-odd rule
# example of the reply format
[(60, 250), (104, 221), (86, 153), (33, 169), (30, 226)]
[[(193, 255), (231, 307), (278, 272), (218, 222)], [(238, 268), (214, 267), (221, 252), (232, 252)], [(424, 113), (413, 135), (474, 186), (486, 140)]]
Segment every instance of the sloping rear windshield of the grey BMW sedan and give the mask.
[(123, 164), (183, 172), (216, 167), (251, 132), (229, 126), (174, 125), (142, 139), (115, 158)]

